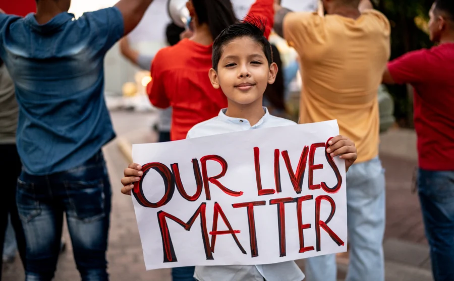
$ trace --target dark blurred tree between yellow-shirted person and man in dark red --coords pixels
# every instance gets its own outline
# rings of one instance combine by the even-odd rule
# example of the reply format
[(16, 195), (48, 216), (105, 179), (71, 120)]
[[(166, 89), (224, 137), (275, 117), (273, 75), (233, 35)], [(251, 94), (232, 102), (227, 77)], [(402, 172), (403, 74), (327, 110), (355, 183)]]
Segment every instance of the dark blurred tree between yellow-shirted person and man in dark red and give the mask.
[[(427, 22), (433, 0), (372, 0), (391, 24), (391, 59), (409, 51), (430, 48)], [(413, 92), (407, 86), (389, 86), (394, 115), (400, 126), (413, 127)]]

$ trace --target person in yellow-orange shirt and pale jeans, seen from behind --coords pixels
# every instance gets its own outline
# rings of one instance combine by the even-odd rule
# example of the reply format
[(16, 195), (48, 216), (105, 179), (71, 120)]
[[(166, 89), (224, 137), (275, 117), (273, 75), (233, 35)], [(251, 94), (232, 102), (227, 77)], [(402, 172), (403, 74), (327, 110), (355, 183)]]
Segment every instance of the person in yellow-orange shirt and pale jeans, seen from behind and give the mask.
[[(385, 179), (378, 158), (378, 88), (390, 53), (390, 26), (361, 0), (323, 0), (295, 13), (276, 0), (274, 30), (301, 59), (300, 123), (337, 119), (357, 145), (347, 174), (350, 265), (347, 280), (384, 280)], [(311, 281), (335, 281), (334, 255), (309, 258)]]

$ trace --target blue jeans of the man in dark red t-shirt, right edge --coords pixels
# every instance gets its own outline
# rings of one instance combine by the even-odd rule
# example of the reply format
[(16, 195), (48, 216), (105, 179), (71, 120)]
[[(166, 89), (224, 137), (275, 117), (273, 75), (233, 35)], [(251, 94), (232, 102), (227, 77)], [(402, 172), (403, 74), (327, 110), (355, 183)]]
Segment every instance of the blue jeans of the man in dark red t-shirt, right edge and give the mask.
[(454, 171), (418, 171), (418, 192), (435, 281), (454, 280)]

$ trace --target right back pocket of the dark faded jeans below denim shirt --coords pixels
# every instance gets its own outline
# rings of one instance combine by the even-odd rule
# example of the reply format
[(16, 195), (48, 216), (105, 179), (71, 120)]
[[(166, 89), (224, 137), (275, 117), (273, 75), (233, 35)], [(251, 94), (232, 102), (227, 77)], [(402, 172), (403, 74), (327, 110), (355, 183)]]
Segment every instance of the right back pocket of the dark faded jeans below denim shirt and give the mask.
[(67, 181), (67, 215), (83, 222), (92, 222), (105, 216), (104, 181)]

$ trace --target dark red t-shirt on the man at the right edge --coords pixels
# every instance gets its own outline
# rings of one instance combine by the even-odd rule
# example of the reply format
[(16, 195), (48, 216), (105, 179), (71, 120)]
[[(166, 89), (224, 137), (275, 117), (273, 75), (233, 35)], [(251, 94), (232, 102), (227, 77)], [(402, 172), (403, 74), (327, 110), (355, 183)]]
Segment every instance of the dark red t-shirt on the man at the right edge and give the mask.
[(410, 52), (388, 69), (396, 83), (415, 89), (419, 167), (454, 171), (454, 43)]

